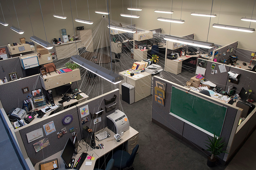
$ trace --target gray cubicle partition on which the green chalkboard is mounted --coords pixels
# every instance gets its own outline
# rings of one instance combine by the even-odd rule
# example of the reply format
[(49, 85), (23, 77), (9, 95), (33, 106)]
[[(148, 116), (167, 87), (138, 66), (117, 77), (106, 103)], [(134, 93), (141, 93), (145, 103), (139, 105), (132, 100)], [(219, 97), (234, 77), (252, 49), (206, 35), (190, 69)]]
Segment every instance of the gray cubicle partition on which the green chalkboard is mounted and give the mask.
[[(183, 89), (184, 91), (188, 91), (189, 89), (179, 86), (170, 81), (167, 81), (163, 78), (159, 78), (157, 76), (154, 76), (153, 87), (156, 86), (156, 81), (166, 83), (165, 102), (164, 102), (164, 106), (161, 106), (160, 104), (155, 102), (155, 99), (153, 97), (153, 100), (152, 100), (152, 122), (155, 123), (156, 125), (162, 127), (163, 129), (169, 131), (173, 135), (177, 136), (178, 138), (182, 139), (183, 141), (187, 142), (188, 144), (194, 146), (197, 149), (200, 149), (202, 151), (207, 149), (204, 142), (206, 142), (206, 139), (208, 139), (207, 136), (209, 136), (209, 135), (207, 135), (206, 133), (204, 133), (201, 130), (198, 130), (197, 128), (193, 127), (192, 125), (189, 125), (189, 124), (183, 122), (182, 120), (179, 120), (176, 117), (169, 114), (170, 106), (171, 106), (172, 86)], [(226, 105), (221, 101), (217, 102), (216, 100), (211, 99), (211, 97), (207, 97), (205, 95), (202, 95), (201, 93), (193, 92), (192, 90), (189, 90), (189, 92), (196, 96), (199, 96), (202, 99), (208, 100), (213, 103), (217, 103), (218, 105), (224, 105), (225, 107), (228, 108), (226, 117), (225, 117), (225, 120), (223, 123), (222, 132), (221, 132), (221, 137), (223, 137), (223, 142), (225, 142), (227, 144), (224, 149), (228, 150), (230, 148), (230, 145), (232, 144), (233, 136), (236, 131), (237, 125), (235, 125), (235, 124), (238, 124), (238, 119), (240, 118), (240, 115), (237, 116), (237, 114), (239, 114), (239, 113), (237, 113), (238, 108), (235, 109), (234, 107), (230, 107), (229, 105)], [(182, 99), (177, 99), (177, 100), (180, 100), (181, 105), (182, 105)], [(206, 106), (204, 106), (204, 107), (206, 107)], [(202, 107), (202, 110), (203, 110), (203, 107)], [(206, 151), (204, 151), (204, 152), (206, 152)], [(219, 156), (219, 158), (221, 160), (223, 160), (224, 153), (222, 153)], [(224, 162), (225, 161), (226, 160), (224, 159)]]

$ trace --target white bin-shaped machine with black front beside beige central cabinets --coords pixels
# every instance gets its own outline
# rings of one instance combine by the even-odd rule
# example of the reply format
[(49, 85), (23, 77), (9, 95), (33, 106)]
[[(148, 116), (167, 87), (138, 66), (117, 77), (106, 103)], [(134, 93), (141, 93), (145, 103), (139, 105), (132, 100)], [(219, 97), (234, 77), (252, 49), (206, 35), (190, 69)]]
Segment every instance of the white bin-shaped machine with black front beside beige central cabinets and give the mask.
[(126, 103), (134, 103), (134, 86), (128, 83), (122, 84), (122, 100)]

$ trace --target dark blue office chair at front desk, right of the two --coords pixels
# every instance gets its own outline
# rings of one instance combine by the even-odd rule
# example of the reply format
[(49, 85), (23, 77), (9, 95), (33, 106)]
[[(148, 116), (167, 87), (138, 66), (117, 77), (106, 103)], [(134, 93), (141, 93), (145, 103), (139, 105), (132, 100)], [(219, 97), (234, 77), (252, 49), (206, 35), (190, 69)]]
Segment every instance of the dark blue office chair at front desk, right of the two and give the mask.
[(134, 161), (138, 149), (139, 145), (137, 144), (135, 148), (132, 149), (131, 155), (123, 150), (115, 151), (115, 153), (112, 156), (112, 158), (115, 159), (114, 167), (118, 168), (119, 170), (123, 170), (124, 168), (133, 170), (134, 168), (132, 167), (132, 163)]

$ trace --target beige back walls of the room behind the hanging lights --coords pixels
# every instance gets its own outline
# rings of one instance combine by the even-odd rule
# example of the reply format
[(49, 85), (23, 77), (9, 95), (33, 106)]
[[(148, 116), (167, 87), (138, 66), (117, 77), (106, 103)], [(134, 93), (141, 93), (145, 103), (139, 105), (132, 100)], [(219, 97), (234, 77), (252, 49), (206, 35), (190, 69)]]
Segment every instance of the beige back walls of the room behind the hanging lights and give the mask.
[[(29, 0), (28, 0), (29, 1)], [(109, 0), (110, 1), (110, 0)], [(249, 2), (248, 0), (241, 1), (241, 0), (225, 0), (222, 2), (221, 11), (220, 11), (220, 4), (222, 0), (216, 0), (213, 2), (213, 13), (217, 14), (217, 17), (211, 19), (210, 30), (209, 30), (209, 37), (208, 42), (213, 42), (216, 44), (226, 45), (234, 41), (238, 41), (238, 48), (248, 49), (248, 50), (256, 50), (254, 45), (254, 37), (256, 32), (253, 33), (245, 33), (245, 32), (238, 32), (238, 31), (228, 31), (218, 28), (213, 28), (213, 23), (219, 24), (227, 24), (233, 26), (242, 26), (242, 27), (249, 27), (249, 22), (241, 21), (241, 17), (251, 17), (252, 9), (253, 9), (253, 1)], [(52, 15), (54, 14), (54, 7), (52, 0), (41, 0), (43, 16), (44, 16), (44, 23), (48, 41), (51, 42), (53, 38), (59, 38), (61, 36), (61, 29), (65, 28), (67, 30), (67, 34), (74, 35), (73, 31), (73, 24), (71, 19), (71, 12), (70, 12), (70, 4), (69, 0), (63, 0), (63, 8), (64, 8), (64, 15), (68, 18), (66, 20), (54, 18)], [(138, 19), (132, 19), (133, 24), (137, 24), (138, 27), (144, 29), (155, 29), (155, 28), (162, 28), (162, 32), (169, 34), (170, 31), (170, 23), (157, 21), (157, 17), (166, 17), (171, 18), (171, 14), (160, 14), (154, 12), (157, 8), (159, 10), (170, 10), (172, 1), (171, 0), (137, 0), (137, 7), (143, 9), (141, 12), (137, 12), (138, 15), (141, 17)], [(158, 3), (157, 3), (158, 2)], [(173, 11), (172, 18), (180, 19), (181, 17), (181, 2), (175, 0), (173, 2)], [(196, 2), (196, 7), (195, 7)], [(29, 12), (31, 14), (31, 20), (34, 30), (34, 35), (38, 36), (39, 38), (45, 39), (44, 35), (44, 28), (42, 23), (42, 17), (39, 8), (38, 1), (29, 1)], [(56, 13), (62, 15), (62, 9), (60, 0), (54, 0)], [(131, 24), (130, 18), (120, 17), (120, 13), (131, 13), (126, 8), (130, 6), (131, 1), (124, 0), (124, 12), (121, 0), (111, 0), (111, 15), (110, 17), (118, 22), (125, 22)], [(16, 15), (13, 9), (12, 1), (8, 1), (10, 11), (12, 13), (12, 20), (13, 25), (18, 27)], [(18, 14), (18, 19), (20, 23), (20, 28), (25, 31), (23, 35), (19, 35), (10, 30), (10, 26), (12, 25), (12, 21), (10, 19), (10, 15), (7, 9), (6, 1), (1, 2), (3, 7), (3, 12), (6, 21), (9, 23), (9, 26), (4, 27), (0, 26), (1, 31), (1, 40), (0, 45), (6, 45), (8, 42), (18, 42), (19, 37), (25, 37), (26, 40), (29, 39), (30, 36), (33, 35), (32, 29), (30, 26), (30, 21), (28, 17), (28, 10), (26, 6), (26, 2), (24, 0), (18, 1), (14, 0), (14, 4), (16, 7), (16, 11)], [(110, 2), (109, 2), (110, 4)], [(182, 20), (185, 20), (184, 24), (177, 24), (172, 23), (171, 26), (171, 35), (187, 35), (194, 33), (195, 39), (206, 41), (207, 40), (207, 31), (209, 26), (209, 18), (207, 17), (196, 17), (191, 16), (191, 12), (201, 12), (201, 13), (210, 13), (211, 11), (211, 0), (183, 0), (182, 6)], [(106, 2), (105, 0), (97, 0), (98, 10), (106, 11)], [(132, 7), (136, 6), (136, 1), (132, 0)], [(248, 6), (248, 9), (247, 9)], [(73, 13), (73, 19), (77, 18), (76, 15), (76, 8), (75, 8), (75, 1), (71, 0), (71, 7)], [(86, 0), (77, 0), (77, 7), (78, 7), (78, 18), (81, 19), (89, 19), (88, 16), (88, 8), (87, 8), (87, 1)], [(96, 0), (89, 0), (89, 9), (90, 9), (90, 20), (97, 22), (100, 21), (102, 18), (101, 14), (96, 14), (94, 11), (96, 10)], [(219, 17), (220, 11), (220, 17)], [(246, 14), (247, 11), (247, 14)], [(136, 12), (132, 12), (136, 14)], [(3, 20), (2, 14), (0, 14), (1, 19)], [(256, 18), (253, 15), (253, 18)], [(93, 24), (94, 25), (94, 24)], [(92, 25), (92, 28), (93, 28)], [(87, 24), (82, 24), (74, 21), (74, 27), (76, 26), (84, 26), (85, 29), (90, 28)], [(251, 23), (251, 28), (256, 28), (256, 23)], [(93, 28), (94, 29), (94, 28)]]

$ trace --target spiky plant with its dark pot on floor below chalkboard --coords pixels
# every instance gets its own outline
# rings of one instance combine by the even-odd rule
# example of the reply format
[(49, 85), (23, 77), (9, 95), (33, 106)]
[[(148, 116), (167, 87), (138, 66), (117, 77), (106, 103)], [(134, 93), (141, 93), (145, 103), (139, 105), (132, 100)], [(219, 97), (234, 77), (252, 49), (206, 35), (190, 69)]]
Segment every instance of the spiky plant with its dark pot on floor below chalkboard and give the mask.
[(223, 151), (225, 142), (221, 142), (222, 137), (217, 139), (217, 136), (215, 134), (212, 139), (210, 139), (209, 137), (208, 139), (209, 140), (206, 140), (208, 143), (204, 143), (207, 144), (205, 145), (208, 148), (206, 150), (209, 151), (212, 155), (207, 157), (207, 165), (208, 167), (214, 167), (215, 162), (217, 161), (217, 158), (215, 156), (218, 156), (221, 153), (227, 153), (226, 150)]

